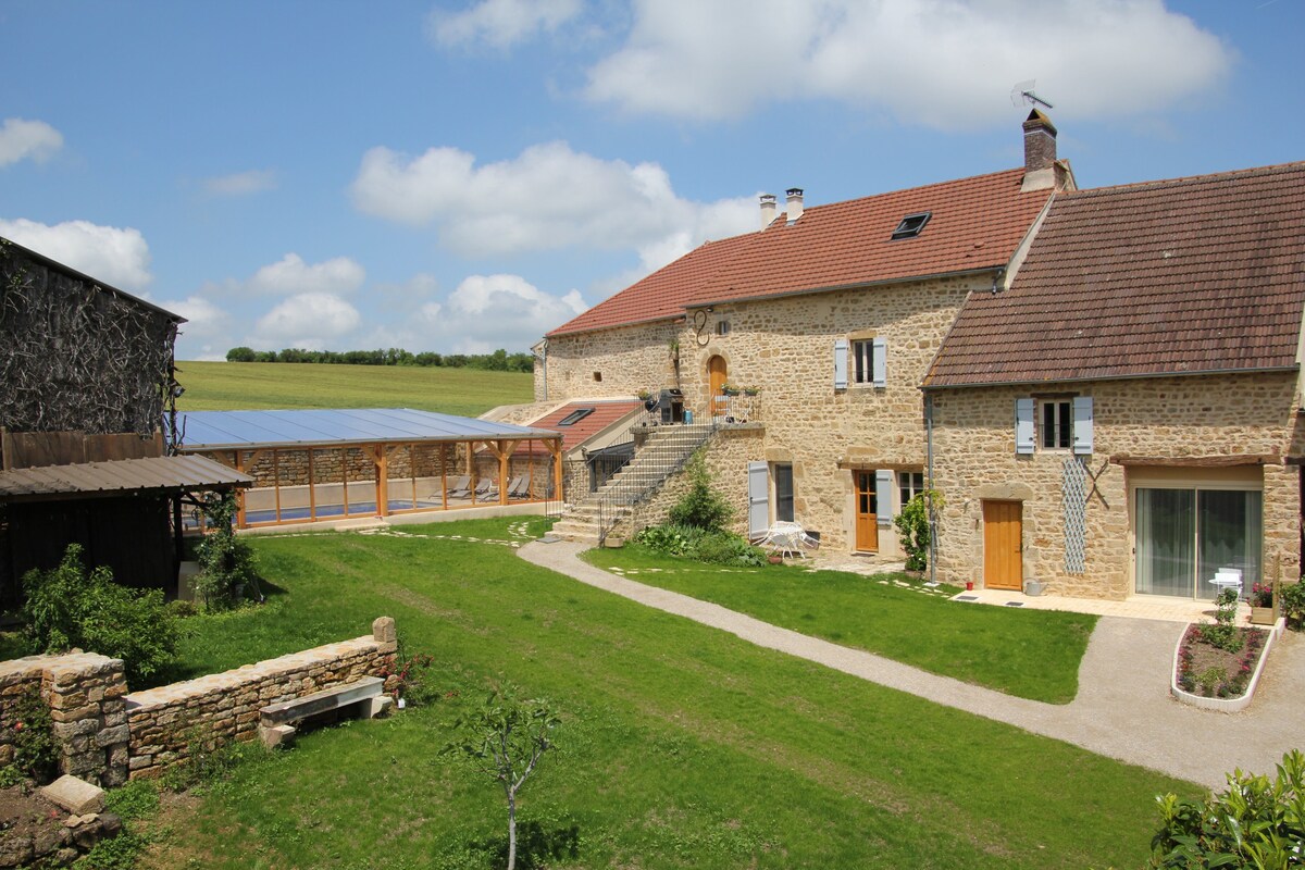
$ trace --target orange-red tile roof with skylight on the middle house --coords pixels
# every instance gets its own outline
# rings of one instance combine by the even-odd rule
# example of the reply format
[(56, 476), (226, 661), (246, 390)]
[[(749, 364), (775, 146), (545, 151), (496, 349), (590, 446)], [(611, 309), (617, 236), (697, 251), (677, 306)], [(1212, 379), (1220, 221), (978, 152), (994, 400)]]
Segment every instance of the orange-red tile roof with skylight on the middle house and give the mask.
[[(681, 317), (693, 304), (760, 299), (1005, 266), (1049, 190), (1021, 193), (1007, 170), (784, 213), (766, 230), (709, 241), (548, 335)], [(894, 241), (902, 218), (930, 211), (924, 231)]]

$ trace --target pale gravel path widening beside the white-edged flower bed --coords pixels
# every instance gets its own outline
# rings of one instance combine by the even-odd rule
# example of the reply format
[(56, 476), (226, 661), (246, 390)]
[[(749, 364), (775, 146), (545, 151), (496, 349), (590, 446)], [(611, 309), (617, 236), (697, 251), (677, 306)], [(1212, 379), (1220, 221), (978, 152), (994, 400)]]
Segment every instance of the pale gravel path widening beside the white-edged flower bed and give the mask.
[(1210, 788), (1236, 767), (1272, 773), (1283, 753), (1305, 746), (1305, 638), (1287, 633), (1274, 644), (1251, 706), (1218, 713), (1169, 697), (1173, 647), (1184, 626), (1101, 617), (1079, 669), (1078, 697), (1056, 706), (1014, 698), (881, 656), (780, 629), (709, 601), (645, 586), (578, 558), (579, 544), (526, 544), (518, 554), (582, 583), (647, 607), (729, 631), (778, 650), (947, 707), (1009, 723)]

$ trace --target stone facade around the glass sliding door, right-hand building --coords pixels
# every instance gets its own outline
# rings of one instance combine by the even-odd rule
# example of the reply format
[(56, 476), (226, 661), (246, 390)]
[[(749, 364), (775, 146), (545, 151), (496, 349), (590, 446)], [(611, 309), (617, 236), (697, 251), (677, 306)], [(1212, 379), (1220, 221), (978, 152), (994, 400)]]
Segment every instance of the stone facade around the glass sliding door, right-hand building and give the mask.
[[(1015, 453), (1015, 399), (1092, 397), (1096, 490), (1086, 503), (1086, 570), (1065, 565), (1069, 450)], [(1300, 577), (1301, 455), (1295, 373), (1155, 377), (934, 393), (934, 484), (946, 498), (938, 578), (984, 584), (985, 500), (1022, 505), (1023, 577), (1054, 595), (1124, 599), (1134, 591), (1134, 497), (1154, 480), (1263, 489), (1266, 579)], [(1241, 458), (1240, 460), (1236, 458)], [(1240, 462), (1241, 464), (1218, 464)]]

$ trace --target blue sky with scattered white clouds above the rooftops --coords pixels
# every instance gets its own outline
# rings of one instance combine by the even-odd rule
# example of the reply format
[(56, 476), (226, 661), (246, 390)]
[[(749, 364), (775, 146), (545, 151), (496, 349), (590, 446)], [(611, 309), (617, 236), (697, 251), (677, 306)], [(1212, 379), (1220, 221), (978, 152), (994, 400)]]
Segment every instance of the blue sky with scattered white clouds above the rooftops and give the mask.
[(701, 244), (1019, 166), (1305, 159), (1301, 0), (0, 4), (0, 236), (238, 344), (525, 351)]

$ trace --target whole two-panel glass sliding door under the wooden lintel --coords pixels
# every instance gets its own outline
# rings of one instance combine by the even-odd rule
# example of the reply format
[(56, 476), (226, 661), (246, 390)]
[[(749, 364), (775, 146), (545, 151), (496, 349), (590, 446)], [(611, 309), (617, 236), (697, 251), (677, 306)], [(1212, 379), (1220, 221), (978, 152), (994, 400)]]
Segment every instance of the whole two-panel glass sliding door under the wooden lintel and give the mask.
[(1214, 599), (1220, 569), (1261, 579), (1263, 494), (1244, 489), (1137, 490), (1137, 592)]

